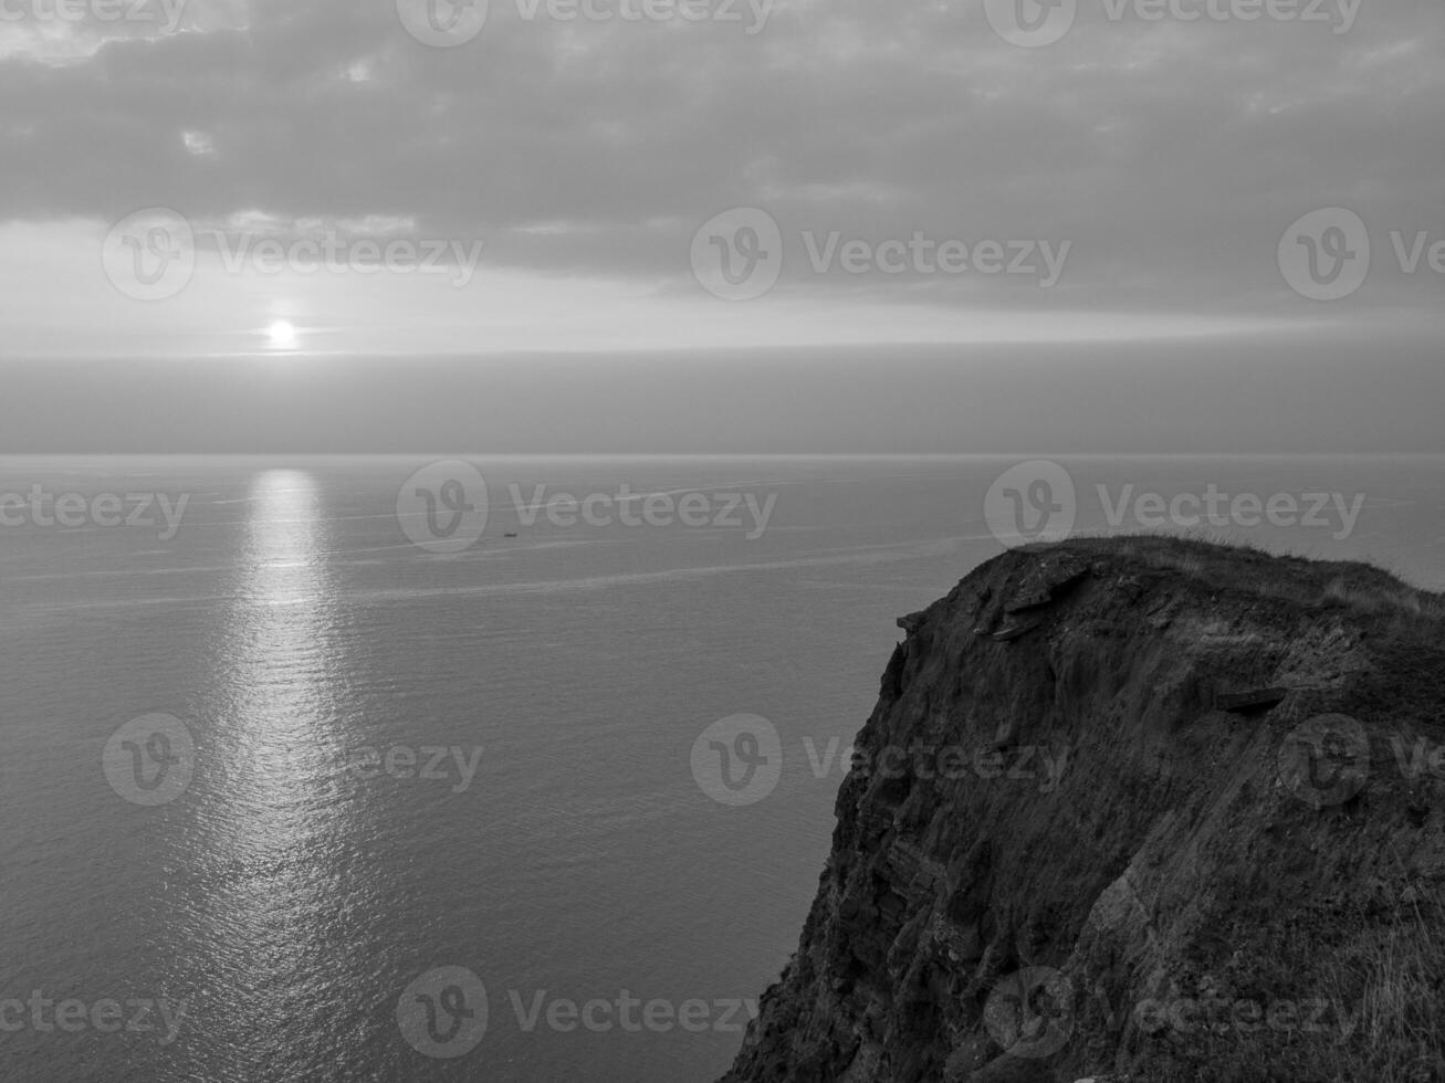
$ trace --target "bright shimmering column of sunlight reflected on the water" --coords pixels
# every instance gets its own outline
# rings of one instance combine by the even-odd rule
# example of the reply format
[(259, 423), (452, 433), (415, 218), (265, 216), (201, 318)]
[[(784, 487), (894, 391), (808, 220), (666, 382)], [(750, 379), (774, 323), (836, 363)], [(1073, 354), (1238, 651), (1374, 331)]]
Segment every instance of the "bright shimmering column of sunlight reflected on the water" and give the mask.
[(319, 507), (306, 472), (254, 479), (217, 658), (201, 920), (210, 969), (247, 1005), (228, 1021), (234, 1040), (257, 1053), (324, 1028), (322, 991), (347, 985), (337, 943), (350, 842), (337, 770), (344, 667)]

